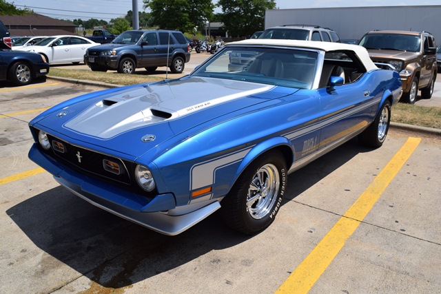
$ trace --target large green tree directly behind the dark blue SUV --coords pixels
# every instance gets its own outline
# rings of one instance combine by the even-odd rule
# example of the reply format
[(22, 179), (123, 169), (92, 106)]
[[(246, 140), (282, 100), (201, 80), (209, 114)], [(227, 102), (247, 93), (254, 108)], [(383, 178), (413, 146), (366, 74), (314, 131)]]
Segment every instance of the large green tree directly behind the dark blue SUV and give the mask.
[(144, 9), (150, 8), (153, 24), (168, 30), (192, 32), (204, 27), (213, 15), (212, 0), (143, 0)]

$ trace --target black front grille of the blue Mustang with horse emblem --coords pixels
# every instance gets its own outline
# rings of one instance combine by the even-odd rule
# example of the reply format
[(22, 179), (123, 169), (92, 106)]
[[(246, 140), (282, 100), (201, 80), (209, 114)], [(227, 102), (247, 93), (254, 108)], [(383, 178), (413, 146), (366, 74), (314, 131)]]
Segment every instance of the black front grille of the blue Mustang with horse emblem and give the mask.
[[(49, 134), (48, 139), (54, 154), (71, 167), (81, 169), (82, 171), (87, 171), (96, 176), (116, 180), (118, 182), (123, 182), (130, 185), (130, 174), (128, 173), (127, 167), (121, 159), (72, 145), (60, 140), (59, 138), (50, 136)], [(106, 170), (105, 166), (103, 165), (103, 160), (116, 162), (119, 165), (119, 174), (115, 174), (108, 169)]]

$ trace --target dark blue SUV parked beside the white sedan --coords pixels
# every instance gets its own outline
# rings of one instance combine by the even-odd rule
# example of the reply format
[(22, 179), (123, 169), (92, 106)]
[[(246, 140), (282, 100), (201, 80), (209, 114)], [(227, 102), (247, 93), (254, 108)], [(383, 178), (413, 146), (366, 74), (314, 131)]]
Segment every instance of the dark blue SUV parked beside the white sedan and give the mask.
[(183, 72), (190, 60), (190, 45), (182, 32), (171, 30), (129, 30), (108, 44), (90, 48), (84, 62), (91, 70), (117, 70), (133, 74), (145, 67), (154, 72), (158, 66), (169, 66), (174, 74)]

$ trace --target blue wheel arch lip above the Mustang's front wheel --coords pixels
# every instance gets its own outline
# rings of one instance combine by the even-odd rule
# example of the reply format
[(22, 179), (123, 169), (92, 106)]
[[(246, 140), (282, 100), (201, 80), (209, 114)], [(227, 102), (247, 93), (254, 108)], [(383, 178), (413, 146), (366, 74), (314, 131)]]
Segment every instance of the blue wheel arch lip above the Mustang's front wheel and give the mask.
[(291, 167), (292, 162), (294, 162), (294, 147), (289, 142), (288, 138), (283, 136), (278, 136), (274, 138), (269, 138), (263, 142), (254, 145), (252, 149), (247, 153), (245, 158), (243, 158), (242, 162), (234, 175), (234, 182), (238, 179), (240, 174), (253, 162), (258, 156), (265, 154), (267, 151), (272, 149), (280, 149), (282, 151), (283, 156), (287, 162), (287, 168)]

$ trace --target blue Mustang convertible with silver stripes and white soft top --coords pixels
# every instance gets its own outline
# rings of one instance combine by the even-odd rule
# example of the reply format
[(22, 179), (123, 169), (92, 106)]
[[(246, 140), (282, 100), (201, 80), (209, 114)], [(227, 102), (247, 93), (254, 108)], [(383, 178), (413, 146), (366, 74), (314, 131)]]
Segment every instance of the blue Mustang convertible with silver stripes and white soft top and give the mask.
[(159, 233), (220, 209), (253, 234), (274, 221), (290, 172), (355, 136), (380, 147), (401, 94), (398, 72), (358, 45), (239, 41), (183, 78), (48, 109), (30, 122), (29, 157), (77, 196)]

